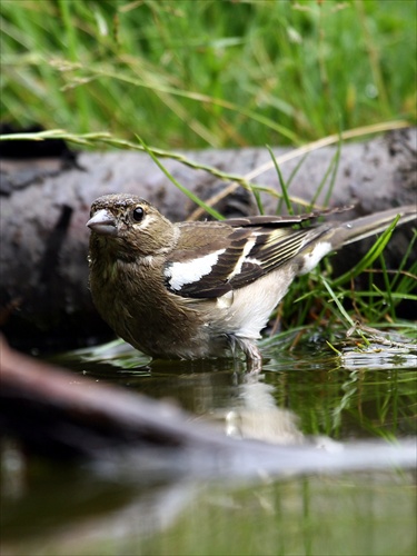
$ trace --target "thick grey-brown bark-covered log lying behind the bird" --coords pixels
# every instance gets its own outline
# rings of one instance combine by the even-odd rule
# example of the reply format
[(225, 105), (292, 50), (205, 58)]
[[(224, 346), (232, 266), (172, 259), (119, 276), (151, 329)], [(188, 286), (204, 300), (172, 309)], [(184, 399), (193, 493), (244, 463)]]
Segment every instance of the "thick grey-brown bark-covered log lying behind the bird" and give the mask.
[[(417, 130), (388, 133), (341, 149), (331, 206), (355, 203), (357, 215), (416, 202)], [(289, 149), (274, 149), (277, 157)], [(291, 182), (290, 195), (309, 201), (325, 176), (336, 148), (311, 152)], [(267, 149), (186, 152), (200, 163), (246, 175), (270, 160)], [(210, 198), (228, 185), (203, 170), (173, 160), (165, 166), (182, 185)], [(281, 166), (286, 179), (299, 159)], [(274, 169), (257, 183), (279, 190)], [(66, 344), (95, 341), (109, 334), (97, 316), (88, 291), (87, 251), (89, 208), (98, 196), (133, 192), (157, 205), (172, 220), (183, 220), (196, 208), (155, 166), (136, 152), (81, 152), (78, 165), (61, 169), (59, 160), (1, 160), (0, 319), (12, 341), (27, 347), (46, 339)], [(325, 201), (327, 188), (317, 199)], [(262, 195), (267, 211), (276, 200)], [(241, 188), (216, 208), (227, 216), (255, 214), (256, 205)], [(350, 215), (349, 215), (350, 217)], [(387, 251), (388, 266), (397, 268), (409, 245), (411, 226), (396, 231)], [(335, 259), (340, 271), (364, 255), (363, 242)]]

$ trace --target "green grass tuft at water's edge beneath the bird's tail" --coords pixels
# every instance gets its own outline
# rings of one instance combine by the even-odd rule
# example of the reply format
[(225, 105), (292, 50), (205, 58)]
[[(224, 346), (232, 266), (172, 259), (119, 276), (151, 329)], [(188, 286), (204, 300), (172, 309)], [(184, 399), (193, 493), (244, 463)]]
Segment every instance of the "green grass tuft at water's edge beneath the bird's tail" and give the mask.
[[(308, 276), (298, 278), (279, 309), (285, 328), (299, 328), (307, 322), (308, 334), (311, 334), (314, 327), (324, 327), (326, 334), (331, 329), (340, 332), (340, 325), (349, 330), (356, 322), (368, 326), (386, 322), (393, 328), (401, 328), (397, 317), (399, 304), (417, 302), (417, 264), (408, 262), (417, 232), (414, 234), (410, 249), (404, 255), (399, 269), (388, 271), (384, 262), (384, 246), (391, 231), (393, 229), (388, 229), (376, 239), (369, 252), (346, 275), (332, 276), (330, 257)], [(374, 257), (369, 258), (369, 254), (374, 254)], [(379, 262), (379, 268), (374, 268), (376, 261)], [(355, 277), (361, 272), (368, 275), (368, 287), (358, 288), (355, 285)], [(376, 280), (380, 275), (384, 288)], [(408, 336), (415, 340), (415, 332), (416, 328), (411, 326), (404, 330), (405, 338)], [(360, 336), (365, 339), (367, 334)]]

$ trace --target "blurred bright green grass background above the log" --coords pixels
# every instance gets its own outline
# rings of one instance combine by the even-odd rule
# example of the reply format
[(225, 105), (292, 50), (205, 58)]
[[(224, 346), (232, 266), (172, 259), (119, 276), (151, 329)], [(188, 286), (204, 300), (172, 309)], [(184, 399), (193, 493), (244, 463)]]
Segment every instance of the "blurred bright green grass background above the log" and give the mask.
[(416, 118), (414, 0), (2, 0), (1, 121), (156, 147)]

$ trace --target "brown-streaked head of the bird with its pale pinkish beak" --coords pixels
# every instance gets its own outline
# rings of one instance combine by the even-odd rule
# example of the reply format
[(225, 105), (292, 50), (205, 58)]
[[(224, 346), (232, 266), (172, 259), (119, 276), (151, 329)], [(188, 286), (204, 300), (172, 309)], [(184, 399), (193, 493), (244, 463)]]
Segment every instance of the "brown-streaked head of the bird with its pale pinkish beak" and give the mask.
[(152, 205), (135, 195), (105, 195), (91, 205), (91, 241), (120, 257), (149, 256), (172, 247), (176, 228)]

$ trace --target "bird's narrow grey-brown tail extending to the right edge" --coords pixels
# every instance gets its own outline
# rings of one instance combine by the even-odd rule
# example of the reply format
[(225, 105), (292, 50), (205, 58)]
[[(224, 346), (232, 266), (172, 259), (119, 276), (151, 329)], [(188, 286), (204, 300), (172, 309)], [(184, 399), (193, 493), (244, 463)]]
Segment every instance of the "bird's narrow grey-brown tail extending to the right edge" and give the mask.
[(416, 220), (417, 206), (406, 205), (342, 222), (329, 230), (326, 239), (331, 244), (332, 249), (338, 249), (341, 246), (385, 231), (398, 216), (397, 225)]

